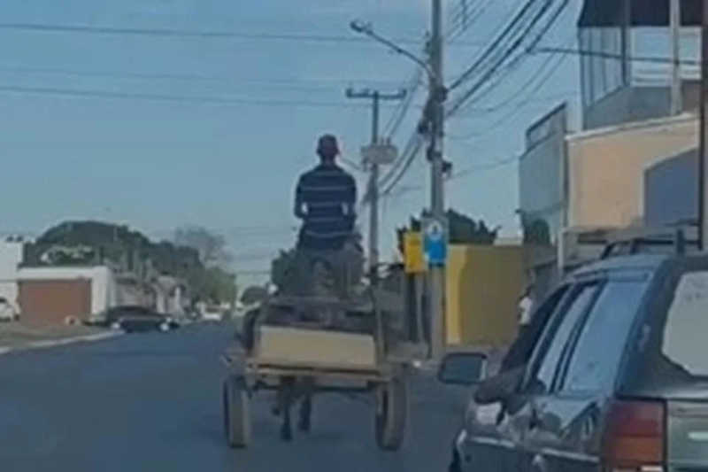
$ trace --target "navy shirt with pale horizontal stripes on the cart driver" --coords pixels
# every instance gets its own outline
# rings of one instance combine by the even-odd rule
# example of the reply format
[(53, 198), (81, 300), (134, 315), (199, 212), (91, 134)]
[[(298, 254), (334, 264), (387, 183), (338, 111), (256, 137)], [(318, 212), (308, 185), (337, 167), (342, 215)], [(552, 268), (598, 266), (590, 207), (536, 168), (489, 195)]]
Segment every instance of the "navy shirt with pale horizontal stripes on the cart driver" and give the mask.
[(341, 249), (354, 229), (357, 182), (335, 164), (320, 164), (300, 176), (296, 208), (303, 211), (299, 246), (313, 250)]

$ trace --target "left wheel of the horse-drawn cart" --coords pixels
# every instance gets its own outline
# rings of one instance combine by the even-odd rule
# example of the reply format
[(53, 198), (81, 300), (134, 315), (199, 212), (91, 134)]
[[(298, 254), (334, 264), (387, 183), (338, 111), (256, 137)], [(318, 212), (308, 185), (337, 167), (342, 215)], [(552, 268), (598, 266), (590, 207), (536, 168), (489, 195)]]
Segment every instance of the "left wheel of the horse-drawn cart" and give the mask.
[(250, 444), (249, 394), (243, 379), (231, 375), (224, 382), (224, 433), (231, 447)]

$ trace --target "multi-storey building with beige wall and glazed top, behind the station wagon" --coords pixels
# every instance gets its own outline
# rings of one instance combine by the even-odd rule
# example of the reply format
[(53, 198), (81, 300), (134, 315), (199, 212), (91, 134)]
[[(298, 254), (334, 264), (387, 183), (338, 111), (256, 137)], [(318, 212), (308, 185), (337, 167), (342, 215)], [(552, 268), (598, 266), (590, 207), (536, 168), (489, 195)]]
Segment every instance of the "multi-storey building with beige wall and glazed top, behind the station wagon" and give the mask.
[[(672, 58), (669, 0), (583, 3), (582, 130), (568, 133), (567, 108), (554, 108), (528, 128), (519, 164), (522, 222), (550, 229), (560, 273), (569, 260), (596, 254), (607, 234), (695, 215), (701, 3), (681, 0), (675, 116), (672, 62), (646, 60)], [(527, 268), (537, 277), (548, 271), (536, 259)]]

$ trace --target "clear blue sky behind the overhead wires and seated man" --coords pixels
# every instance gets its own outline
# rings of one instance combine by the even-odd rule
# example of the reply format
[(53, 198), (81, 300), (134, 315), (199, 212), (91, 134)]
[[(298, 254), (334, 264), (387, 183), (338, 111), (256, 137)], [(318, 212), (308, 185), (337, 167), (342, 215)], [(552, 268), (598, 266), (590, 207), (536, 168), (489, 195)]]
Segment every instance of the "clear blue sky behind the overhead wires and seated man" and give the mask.
[[(446, 8), (457, 1), (445, 2)], [(381, 34), (419, 38), (429, 23), (429, 2), (423, 0), (4, 0), (3, 4), (3, 23), (249, 34), (354, 37), (350, 20), (366, 19)], [(454, 77), (470, 64), (480, 51), (475, 45), (489, 43), (520, 4), (489, 1), (481, 20), (447, 50), (446, 73)], [(543, 43), (568, 45), (579, 7), (580, 0), (573, 0)], [(484, 167), (513, 156), (522, 149), (524, 130), (535, 118), (564, 99), (574, 105), (579, 75), (577, 59), (569, 57), (533, 100), (521, 103), (521, 96), (499, 111), (483, 111), (513, 96), (544, 60), (530, 58), (481, 97), (476, 111), (450, 120), (447, 157), (456, 169)], [(66, 218), (94, 218), (165, 237), (182, 224), (199, 224), (227, 236), (239, 269), (266, 268), (268, 256), (292, 244), (293, 185), (296, 175), (315, 161), (317, 136), (339, 135), (350, 160), (358, 160), (359, 146), (369, 139), (369, 109), (364, 103), (339, 106), (347, 104), (343, 89), (348, 85), (397, 89), (413, 70), (412, 63), (375, 43), (0, 29), (4, 104), (0, 232), (39, 233)], [(7, 87), (297, 105), (2, 91)], [(424, 93), (419, 92), (416, 104), (422, 103)], [(383, 123), (390, 112), (383, 110)], [(411, 135), (418, 117), (414, 107), (395, 136), (399, 145)], [(456, 139), (477, 133), (481, 135)], [(512, 234), (517, 230), (516, 172), (511, 164), (466, 174), (448, 184), (449, 205), (490, 225), (502, 225), (505, 234)], [(401, 183), (405, 191), (384, 202), (385, 255), (391, 253), (393, 228), (427, 204), (427, 173), (426, 162), (419, 159)], [(363, 182), (363, 175), (358, 176)]]

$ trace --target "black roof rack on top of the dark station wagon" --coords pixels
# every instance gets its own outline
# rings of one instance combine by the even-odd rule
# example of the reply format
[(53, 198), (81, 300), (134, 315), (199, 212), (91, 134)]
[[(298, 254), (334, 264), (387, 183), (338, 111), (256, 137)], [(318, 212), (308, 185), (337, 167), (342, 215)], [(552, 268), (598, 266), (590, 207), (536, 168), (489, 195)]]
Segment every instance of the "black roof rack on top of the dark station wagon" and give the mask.
[(633, 228), (618, 232), (605, 245), (600, 259), (646, 253), (669, 253), (658, 251), (666, 247), (675, 255), (683, 256), (688, 246), (698, 247), (697, 239), (686, 237), (690, 228)]

